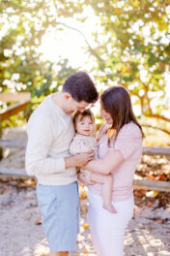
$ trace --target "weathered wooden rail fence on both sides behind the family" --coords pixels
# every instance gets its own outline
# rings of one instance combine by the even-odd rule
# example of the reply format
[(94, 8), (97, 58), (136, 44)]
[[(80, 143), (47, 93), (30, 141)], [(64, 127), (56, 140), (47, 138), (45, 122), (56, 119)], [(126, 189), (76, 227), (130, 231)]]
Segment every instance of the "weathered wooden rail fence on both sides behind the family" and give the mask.
[[(30, 103), (30, 94), (0, 94), (0, 101), (21, 101), (19, 104), (16, 104), (10, 108), (8, 108), (4, 112), (0, 112), (0, 139), (2, 137), (2, 128), (1, 121), (7, 119), (12, 114), (25, 110), (25, 108)], [(0, 153), (2, 156), (3, 147), (18, 147), (25, 148), (27, 142), (22, 140), (0, 140)], [(170, 148), (166, 147), (143, 147), (143, 155), (160, 155), (160, 156), (170, 156)], [(30, 177), (27, 176), (25, 170), (18, 169), (10, 169), (10, 168), (0, 168), (0, 176), (16, 176), (16, 177)], [(34, 177), (34, 176), (33, 176)], [(164, 191), (170, 192), (170, 181), (156, 181), (150, 179), (133, 179), (133, 187), (135, 189), (147, 189), (147, 190), (156, 190), (156, 191)]]

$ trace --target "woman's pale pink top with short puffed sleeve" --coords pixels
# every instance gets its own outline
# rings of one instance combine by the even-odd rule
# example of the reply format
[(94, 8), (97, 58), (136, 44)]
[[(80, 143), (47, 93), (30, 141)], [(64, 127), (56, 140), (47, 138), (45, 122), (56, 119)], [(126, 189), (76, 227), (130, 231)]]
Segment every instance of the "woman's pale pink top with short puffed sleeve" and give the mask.
[[(125, 124), (116, 141), (112, 138), (109, 145), (107, 135), (104, 134), (99, 140), (99, 159), (104, 158), (108, 150), (114, 149), (121, 151), (125, 161), (113, 173), (112, 200), (126, 201), (132, 197), (132, 179), (142, 153), (142, 134), (135, 123)], [(102, 195), (102, 184), (95, 183), (90, 185), (89, 189)]]

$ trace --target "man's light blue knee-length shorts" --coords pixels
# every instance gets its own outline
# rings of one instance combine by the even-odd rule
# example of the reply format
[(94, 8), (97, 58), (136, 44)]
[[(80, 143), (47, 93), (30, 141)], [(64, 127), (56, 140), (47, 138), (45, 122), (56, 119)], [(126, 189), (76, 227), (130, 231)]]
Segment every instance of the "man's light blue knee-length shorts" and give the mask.
[(79, 232), (79, 194), (77, 181), (67, 185), (37, 186), (42, 227), (51, 251), (76, 249)]

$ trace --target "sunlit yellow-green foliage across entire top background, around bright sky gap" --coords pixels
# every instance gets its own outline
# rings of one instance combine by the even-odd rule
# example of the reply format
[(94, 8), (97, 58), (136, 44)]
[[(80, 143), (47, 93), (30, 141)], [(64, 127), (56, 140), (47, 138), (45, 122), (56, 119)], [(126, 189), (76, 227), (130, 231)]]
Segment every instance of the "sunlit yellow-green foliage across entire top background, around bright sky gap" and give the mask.
[[(99, 20), (92, 34), (95, 48), (86, 40), (89, 62), (96, 59), (89, 72), (100, 84), (110, 86), (114, 81), (126, 86), (140, 104), (142, 115), (161, 120), (165, 127), (170, 123), (162, 112), (170, 108), (163, 100), (170, 63), (169, 1), (1, 1), (0, 28), (6, 30), (0, 40), (1, 90), (31, 91), (32, 110), (45, 95), (56, 91), (74, 70), (68, 60), (55, 63), (60, 67), (57, 72), (53, 63), (42, 60), (38, 51), (42, 36), (51, 28), (71, 28), (67, 18), (84, 22), (88, 8)], [(14, 74), (19, 75), (17, 80)], [(157, 104), (153, 104), (153, 95)]]

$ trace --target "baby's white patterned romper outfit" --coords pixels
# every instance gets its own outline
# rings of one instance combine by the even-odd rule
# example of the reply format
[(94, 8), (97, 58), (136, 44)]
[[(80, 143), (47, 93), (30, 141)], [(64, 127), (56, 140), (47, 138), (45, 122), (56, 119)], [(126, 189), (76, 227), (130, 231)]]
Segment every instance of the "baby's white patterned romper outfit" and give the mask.
[[(70, 144), (70, 152), (72, 155), (79, 153), (86, 153), (89, 151), (95, 152), (95, 159), (98, 159), (98, 143), (93, 136), (85, 136), (76, 134)], [(91, 173), (87, 170), (80, 169), (88, 180), (90, 180)]]

